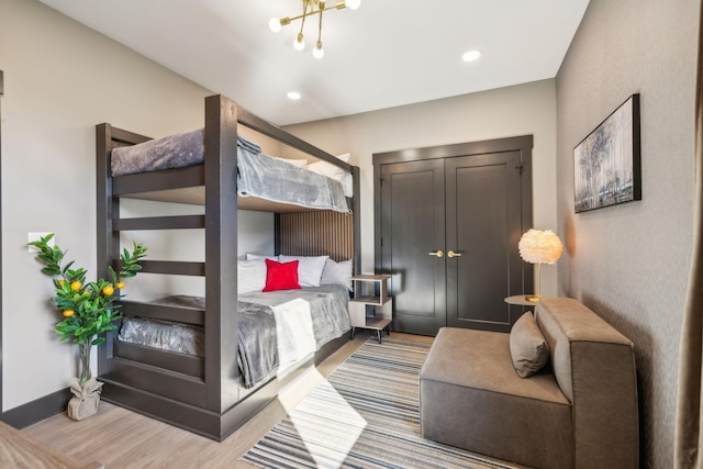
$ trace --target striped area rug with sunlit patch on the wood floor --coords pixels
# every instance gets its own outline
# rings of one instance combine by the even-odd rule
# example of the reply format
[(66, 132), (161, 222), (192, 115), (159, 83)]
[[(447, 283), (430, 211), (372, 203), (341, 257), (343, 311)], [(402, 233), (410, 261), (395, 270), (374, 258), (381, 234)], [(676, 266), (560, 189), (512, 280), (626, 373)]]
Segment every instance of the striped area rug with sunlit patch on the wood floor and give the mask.
[(429, 344), (366, 342), (242, 460), (261, 468), (505, 468), (424, 439), (419, 373)]

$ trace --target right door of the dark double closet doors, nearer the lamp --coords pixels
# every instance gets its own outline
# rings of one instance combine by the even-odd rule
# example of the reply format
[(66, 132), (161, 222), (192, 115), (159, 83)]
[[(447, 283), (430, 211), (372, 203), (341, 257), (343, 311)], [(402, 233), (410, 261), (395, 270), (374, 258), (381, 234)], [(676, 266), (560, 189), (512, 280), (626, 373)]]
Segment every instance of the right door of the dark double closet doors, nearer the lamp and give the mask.
[(510, 331), (503, 299), (522, 291), (520, 153), (446, 159), (447, 325)]

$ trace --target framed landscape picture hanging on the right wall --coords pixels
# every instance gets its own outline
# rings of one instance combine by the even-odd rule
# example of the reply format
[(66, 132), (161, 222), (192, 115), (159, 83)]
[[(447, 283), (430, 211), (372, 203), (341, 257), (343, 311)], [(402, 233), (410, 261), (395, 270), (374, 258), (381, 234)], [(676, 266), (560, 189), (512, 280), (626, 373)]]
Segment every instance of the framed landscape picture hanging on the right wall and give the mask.
[(639, 94), (573, 148), (576, 213), (641, 200)]

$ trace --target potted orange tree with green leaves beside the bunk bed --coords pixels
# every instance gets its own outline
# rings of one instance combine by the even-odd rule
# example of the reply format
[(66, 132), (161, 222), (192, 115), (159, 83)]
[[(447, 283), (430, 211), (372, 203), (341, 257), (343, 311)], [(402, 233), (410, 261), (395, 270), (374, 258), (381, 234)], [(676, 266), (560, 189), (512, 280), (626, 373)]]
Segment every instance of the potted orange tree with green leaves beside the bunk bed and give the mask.
[(68, 416), (82, 420), (98, 411), (102, 382), (96, 380), (90, 371), (90, 350), (93, 345), (105, 342), (104, 333), (116, 328), (115, 322), (122, 319), (120, 305), (114, 304), (123, 295), (124, 279), (137, 275), (142, 269), (140, 260), (146, 255), (144, 245), (134, 243), (132, 252), (122, 252), (120, 271), (112, 267), (110, 279), (86, 281), (86, 269), (72, 269), (74, 261), (64, 265), (66, 250), (49, 246), (54, 233), (40, 241), (29, 243), (40, 249), (36, 258), (44, 264), (42, 271), (54, 279), (54, 303), (60, 312), (55, 331), (60, 340), (78, 344), (80, 349), (80, 377), (70, 380), (70, 390), (75, 398), (68, 403)]

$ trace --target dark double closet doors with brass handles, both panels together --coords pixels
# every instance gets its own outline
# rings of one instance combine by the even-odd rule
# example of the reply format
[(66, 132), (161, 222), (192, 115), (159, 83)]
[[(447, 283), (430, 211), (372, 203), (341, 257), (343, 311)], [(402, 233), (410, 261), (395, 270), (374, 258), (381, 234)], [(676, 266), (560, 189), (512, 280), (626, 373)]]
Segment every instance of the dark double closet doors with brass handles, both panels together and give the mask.
[(532, 136), (373, 155), (376, 271), (392, 275), (393, 328), (509, 332), (505, 297), (532, 289), (517, 252), (532, 225)]

